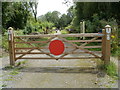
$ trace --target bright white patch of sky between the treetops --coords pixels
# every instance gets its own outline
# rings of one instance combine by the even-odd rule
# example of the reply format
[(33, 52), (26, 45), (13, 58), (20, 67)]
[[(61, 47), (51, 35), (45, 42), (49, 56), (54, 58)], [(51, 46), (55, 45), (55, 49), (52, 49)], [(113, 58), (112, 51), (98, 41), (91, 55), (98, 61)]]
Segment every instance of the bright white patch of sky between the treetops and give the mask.
[[(66, 5), (63, 4), (63, 2), (64, 0), (38, 0), (37, 17), (49, 11), (59, 11), (61, 14), (66, 14), (72, 3)], [(72, 0), (70, 0), (70, 2), (72, 2)]]

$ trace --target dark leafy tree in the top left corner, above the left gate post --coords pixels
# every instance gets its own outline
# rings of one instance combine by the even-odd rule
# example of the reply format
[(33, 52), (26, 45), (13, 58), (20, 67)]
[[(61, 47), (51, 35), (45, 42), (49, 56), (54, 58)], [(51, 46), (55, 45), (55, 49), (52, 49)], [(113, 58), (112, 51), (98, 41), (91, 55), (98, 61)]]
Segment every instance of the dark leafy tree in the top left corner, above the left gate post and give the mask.
[(14, 27), (23, 29), (26, 26), (30, 14), (27, 2), (3, 2), (2, 3), (3, 28)]

